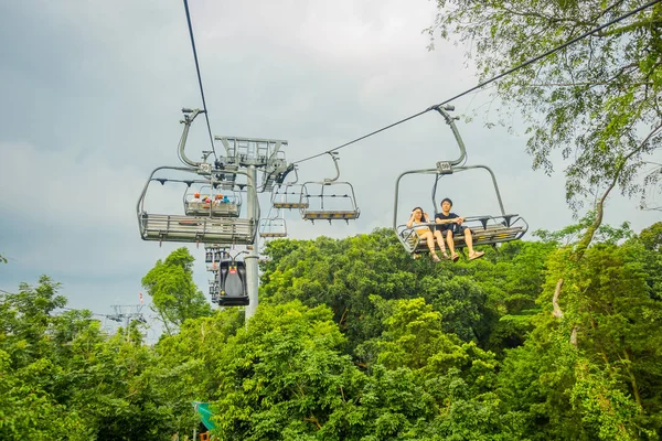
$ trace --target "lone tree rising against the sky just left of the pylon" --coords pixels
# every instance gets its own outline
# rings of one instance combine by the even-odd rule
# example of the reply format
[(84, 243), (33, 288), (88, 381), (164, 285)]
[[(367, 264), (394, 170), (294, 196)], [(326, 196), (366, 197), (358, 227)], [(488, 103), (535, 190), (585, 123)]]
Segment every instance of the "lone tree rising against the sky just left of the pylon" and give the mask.
[(188, 248), (178, 248), (166, 260), (157, 260), (142, 278), (142, 286), (169, 334), (186, 319), (211, 315), (210, 304), (193, 282), (194, 260)]

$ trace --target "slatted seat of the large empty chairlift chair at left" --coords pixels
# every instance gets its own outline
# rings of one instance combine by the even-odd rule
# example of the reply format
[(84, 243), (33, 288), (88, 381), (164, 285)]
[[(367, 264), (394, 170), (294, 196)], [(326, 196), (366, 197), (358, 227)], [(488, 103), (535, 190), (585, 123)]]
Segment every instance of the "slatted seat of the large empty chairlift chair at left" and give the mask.
[(141, 213), (143, 240), (252, 245), (255, 226), (249, 219), (194, 217)]

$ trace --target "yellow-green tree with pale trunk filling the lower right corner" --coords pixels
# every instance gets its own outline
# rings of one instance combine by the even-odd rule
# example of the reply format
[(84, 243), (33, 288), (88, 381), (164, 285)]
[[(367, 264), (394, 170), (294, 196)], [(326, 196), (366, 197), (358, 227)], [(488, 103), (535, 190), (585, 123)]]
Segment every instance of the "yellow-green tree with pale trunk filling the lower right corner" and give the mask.
[(506, 353), (500, 395), (509, 411), (527, 415), (534, 439), (658, 439), (662, 304), (647, 255), (630, 240), (572, 256), (551, 256), (546, 312)]

